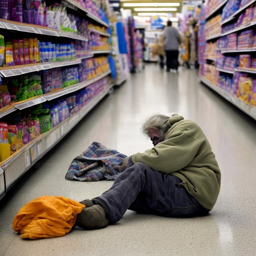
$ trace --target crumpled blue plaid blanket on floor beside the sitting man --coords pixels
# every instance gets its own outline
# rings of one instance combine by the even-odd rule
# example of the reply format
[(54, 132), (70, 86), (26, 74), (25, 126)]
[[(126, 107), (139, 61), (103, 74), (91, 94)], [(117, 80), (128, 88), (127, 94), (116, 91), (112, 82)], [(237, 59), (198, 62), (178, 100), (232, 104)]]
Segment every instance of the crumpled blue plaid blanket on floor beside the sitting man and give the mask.
[(119, 174), (126, 155), (108, 149), (98, 142), (93, 142), (88, 149), (74, 158), (66, 173), (66, 180), (97, 181), (114, 180)]

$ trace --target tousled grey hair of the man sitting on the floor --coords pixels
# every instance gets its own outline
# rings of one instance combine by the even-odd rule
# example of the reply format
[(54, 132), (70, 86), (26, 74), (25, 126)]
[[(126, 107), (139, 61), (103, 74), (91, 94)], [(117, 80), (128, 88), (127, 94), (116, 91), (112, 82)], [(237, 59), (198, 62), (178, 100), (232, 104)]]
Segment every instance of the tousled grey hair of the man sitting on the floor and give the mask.
[(167, 131), (170, 129), (170, 125), (167, 122), (169, 118), (170, 116), (164, 116), (161, 114), (154, 114), (153, 116), (150, 116), (142, 125), (142, 132), (148, 136), (148, 131), (150, 129), (157, 129), (162, 138), (164, 138)]

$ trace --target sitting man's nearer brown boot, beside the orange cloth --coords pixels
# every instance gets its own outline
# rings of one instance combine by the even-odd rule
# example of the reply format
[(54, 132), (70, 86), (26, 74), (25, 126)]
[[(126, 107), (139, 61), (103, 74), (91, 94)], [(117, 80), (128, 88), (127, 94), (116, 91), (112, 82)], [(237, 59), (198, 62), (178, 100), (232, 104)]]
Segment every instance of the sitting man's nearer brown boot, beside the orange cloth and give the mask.
[(108, 219), (102, 206), (94, 204), (84, 208), (76, 217), (76, 226), (84, 229), (98, 229), (108, 226)]

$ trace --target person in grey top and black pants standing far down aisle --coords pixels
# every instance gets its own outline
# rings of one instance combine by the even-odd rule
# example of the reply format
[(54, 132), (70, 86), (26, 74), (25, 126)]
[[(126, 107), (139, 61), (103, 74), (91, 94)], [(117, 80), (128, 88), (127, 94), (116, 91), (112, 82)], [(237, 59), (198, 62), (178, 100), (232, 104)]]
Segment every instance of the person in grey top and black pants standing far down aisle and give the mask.
[(164, 30), (164, 50), (166, 55), (166, 71), (178, 71), (179, 45), (181, 43), (180, 34), (168, 20), (167, 27)]

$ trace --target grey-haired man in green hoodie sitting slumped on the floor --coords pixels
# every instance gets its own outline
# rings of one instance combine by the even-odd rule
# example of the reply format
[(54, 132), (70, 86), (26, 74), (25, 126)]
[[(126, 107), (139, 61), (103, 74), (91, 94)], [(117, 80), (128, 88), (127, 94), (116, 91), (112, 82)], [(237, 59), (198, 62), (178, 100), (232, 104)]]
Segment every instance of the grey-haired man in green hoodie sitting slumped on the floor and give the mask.
[(166, 217), (207, 215), (220, 191), (220, 169), (201, 128), (177, 114), (154, 115), (143, 125), (154, 148), (125, 158), (102, 196), (81, 203), (76, 226), (104, 228), (127, 209)]

